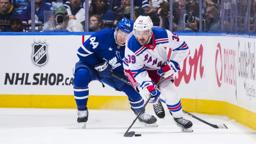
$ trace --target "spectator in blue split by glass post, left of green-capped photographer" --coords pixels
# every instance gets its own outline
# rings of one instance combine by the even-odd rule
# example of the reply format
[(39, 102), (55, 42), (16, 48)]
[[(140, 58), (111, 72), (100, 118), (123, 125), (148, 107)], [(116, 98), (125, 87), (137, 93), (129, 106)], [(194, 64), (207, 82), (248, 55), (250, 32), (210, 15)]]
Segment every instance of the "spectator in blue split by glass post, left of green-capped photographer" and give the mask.
[[(43, 12), (44, 11), (53, 11), (53, 7), (43, 2), (43, 0), (35, 0), (35, 23), (36, 24), (43, 24)], [(26, 9), (21, 12), (21, 21), (24, 24), (31, 23), (31, 5), (28, 5)], [(29, 28), (31, 30), (31, 28)], [(36, 31), (41, 31), (43, 29), (42, 26), (36, 27)], [(30, 31), (28, 30), (28, 31)]]

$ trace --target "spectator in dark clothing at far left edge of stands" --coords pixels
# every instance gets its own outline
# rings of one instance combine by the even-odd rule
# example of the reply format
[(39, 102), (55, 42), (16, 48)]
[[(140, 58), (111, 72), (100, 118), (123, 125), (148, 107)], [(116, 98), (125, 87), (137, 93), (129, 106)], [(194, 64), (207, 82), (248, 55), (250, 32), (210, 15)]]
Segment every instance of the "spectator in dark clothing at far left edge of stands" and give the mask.
[[(11, 18), (19, 16), (11, 0), (0, 0), (0, 24), (10, 24)], [(10, 26), (0, 27), (0, 32), (9, 32)]]

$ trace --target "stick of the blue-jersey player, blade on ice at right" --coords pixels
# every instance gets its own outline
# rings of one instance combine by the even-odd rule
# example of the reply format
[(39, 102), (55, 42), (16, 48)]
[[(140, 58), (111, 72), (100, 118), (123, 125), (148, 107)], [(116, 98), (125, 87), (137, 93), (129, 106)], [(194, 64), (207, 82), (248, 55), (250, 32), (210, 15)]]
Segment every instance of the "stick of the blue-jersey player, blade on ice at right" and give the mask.
[[(119, 80), (122, 80), (123, 82), (127, 83), (128, 85), (131, 85), (130, 82), (128, 80), (125, 80), (123, 78), (120, 78), (119, 76), (111, 73), (111, 75), (113, 75), (115, 78), (119, 79)], [(162, 98), (160, 98), (160, 100), (165, 103), (165, 100), (163, 100)], [(185, 110), (182, 110), (183, 113), (189, 115), (190, 117), (193, 117), (194, 119), (197, 119), (205, 124), (207, 124), (208, 126), (211, 126), (213, 128), (226, 128), (228, 129), (228, 127), (225, 125), (225, 124), (220, 124), (220, 125), (216, 125), (216, 124), (212, 124), (212, 123), (208, 123), (207, 121), (204, 121), (203, 119), (200, 119), (199, 117), (193, 115), (193, 114), (190, 114), (189, 112), (186, 112)]]

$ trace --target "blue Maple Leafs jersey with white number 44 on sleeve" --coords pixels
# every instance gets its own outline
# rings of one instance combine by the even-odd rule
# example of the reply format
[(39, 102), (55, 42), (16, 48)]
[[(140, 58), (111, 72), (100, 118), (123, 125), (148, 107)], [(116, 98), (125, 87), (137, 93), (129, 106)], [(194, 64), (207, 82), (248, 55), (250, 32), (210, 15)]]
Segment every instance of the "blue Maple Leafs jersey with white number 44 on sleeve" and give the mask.
[(116, 44), (114, 32), (115, 29), (103, 29), (91, 35), (78, 49), (79, 59), (91, 67), (106, 60), (113, 70), (123, 72), (125, 46)]

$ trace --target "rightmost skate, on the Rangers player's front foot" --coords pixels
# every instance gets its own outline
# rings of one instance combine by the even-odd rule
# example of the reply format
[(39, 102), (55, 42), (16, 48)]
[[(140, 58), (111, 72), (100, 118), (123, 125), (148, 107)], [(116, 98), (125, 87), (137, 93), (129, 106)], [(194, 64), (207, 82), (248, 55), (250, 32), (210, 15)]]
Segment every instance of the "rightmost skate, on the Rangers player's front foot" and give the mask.
[(187, 119), (184, 119), (183, 117), (175, 118), (174, 117), (174, 123), (181, 128), (181, 131), (183, 132), (193, 132), (192, 126), (193, 123)]

